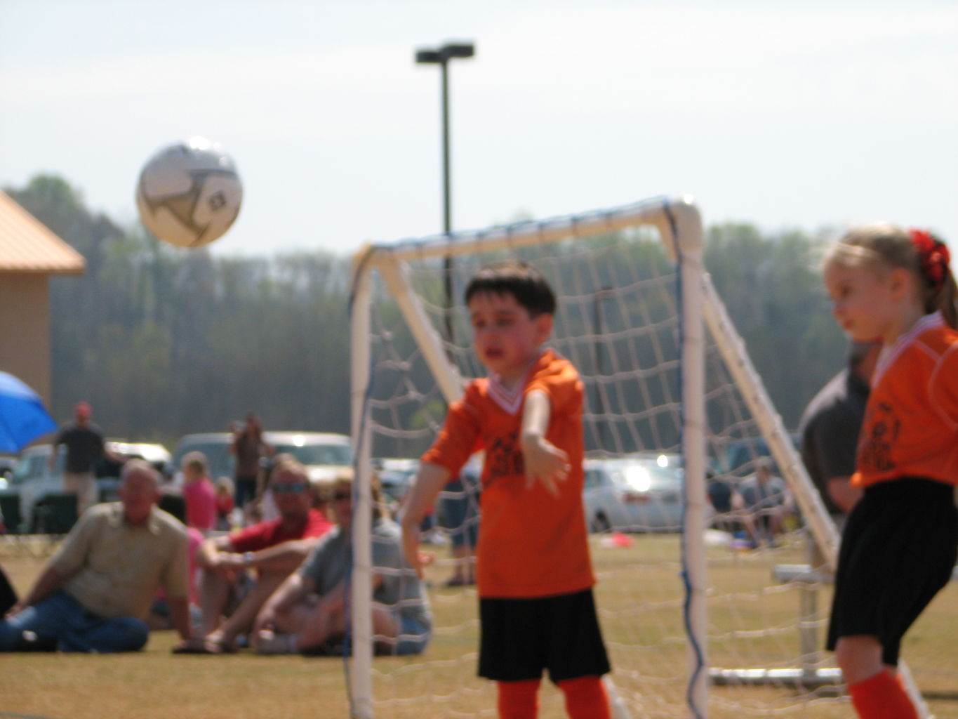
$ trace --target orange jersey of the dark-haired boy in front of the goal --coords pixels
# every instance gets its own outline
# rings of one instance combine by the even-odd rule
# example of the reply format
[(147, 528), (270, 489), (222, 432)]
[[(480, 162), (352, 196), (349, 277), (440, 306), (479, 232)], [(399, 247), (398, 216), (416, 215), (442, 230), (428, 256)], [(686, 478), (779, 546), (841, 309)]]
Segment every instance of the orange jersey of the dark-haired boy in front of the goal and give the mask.
[[(546, 439), (567, 452), (572, 465), (569, 477), (557, 482), (559, 498), (539, 481), (526, 486), (519, 429), (525, 397), (533, 389), (549, 397)], [(576, 368), (546, 350), (514, 393), (495, 377), (468, 383), (422, 461), (455, 477), (478, 450), (486, 452), (476, 551), (479, 595), (542, 597), (595, 584), (582, 509), (582, 382)]]

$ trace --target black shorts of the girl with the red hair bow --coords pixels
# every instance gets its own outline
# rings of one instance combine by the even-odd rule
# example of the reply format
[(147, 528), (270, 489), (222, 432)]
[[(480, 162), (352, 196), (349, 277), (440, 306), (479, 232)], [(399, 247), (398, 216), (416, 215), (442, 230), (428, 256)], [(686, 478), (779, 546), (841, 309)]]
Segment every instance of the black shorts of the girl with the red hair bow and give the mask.
[(871, 635), (896, 665), (901, 638), (951, 578), (958, 553), (953, 488), (905, 477), (868, 487), (842, 532), (827, 647)]

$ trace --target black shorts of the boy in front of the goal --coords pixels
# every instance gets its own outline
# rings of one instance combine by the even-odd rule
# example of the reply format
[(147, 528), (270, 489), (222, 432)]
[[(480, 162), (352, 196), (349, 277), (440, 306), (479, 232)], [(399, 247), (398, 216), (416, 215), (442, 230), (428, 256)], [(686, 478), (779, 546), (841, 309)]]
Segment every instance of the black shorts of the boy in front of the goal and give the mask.
[(592, 590), (533, 599), (480, 599), (479, 676), (559, 683), (601, 676), (608, 657)]

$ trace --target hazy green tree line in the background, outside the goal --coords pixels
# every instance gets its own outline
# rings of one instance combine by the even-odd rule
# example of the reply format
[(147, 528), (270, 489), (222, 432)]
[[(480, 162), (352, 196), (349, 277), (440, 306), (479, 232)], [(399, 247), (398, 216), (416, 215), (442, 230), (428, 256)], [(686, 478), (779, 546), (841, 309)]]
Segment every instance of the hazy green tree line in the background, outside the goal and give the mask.
[[(51, 281), (52, 411), (90, 402), (109, 436), (171, 447), (247, 410), (267, 429), (350, 430), (351, 258), (229, 258), (121, 227), (62, 177), (6, 192), (86, 259)], [(824, 233), (822, 233), (824, 235)], [(705, 266), (788, 428), (843, 364), (821, 235), (708, 228)]]

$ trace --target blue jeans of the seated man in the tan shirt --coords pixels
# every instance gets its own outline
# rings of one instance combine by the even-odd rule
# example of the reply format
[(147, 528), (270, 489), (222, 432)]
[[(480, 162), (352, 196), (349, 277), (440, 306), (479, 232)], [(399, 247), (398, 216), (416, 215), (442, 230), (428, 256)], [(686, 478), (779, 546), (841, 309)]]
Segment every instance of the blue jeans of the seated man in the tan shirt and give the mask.
[(33, 632), (40, 639), (57, 639), (61, 652), (135, 652), (149, 637), (146, 622), (133, 616), (103, 619), (92, 615), (62, 590), (0, 620), (0, 651), (14, 651), (24, 632)]

